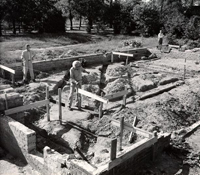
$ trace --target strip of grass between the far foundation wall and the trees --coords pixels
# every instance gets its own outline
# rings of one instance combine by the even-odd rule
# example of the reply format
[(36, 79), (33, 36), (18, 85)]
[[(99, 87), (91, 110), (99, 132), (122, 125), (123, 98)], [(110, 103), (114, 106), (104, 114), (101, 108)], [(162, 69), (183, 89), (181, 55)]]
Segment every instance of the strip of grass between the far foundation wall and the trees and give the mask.
[(26, 44), (30, 44), (32, 50), (36, 52), (35, 60), (47, 60), (119, 50), (127, 40), (141, 42), (143, 47), (148, 48), (157, 44), (156, 38), (91, 35), (84, 32), (3, 36), (0, 37), (0, 61), (1, 64), (21, 62), (20, 56)]

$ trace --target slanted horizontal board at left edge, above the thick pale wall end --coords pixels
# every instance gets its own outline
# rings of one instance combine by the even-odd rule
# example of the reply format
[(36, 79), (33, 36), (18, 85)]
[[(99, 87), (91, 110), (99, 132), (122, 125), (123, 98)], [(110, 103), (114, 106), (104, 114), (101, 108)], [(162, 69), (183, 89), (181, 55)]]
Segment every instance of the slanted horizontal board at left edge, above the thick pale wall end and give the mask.
[(20, 107), (5, 110), (5, 115), (15, 114), (15, 113), (26, 111), (32, 108), (41, 107), (47, 104), (49, 104), (49, 100), (42, 100), (42, 101), (31, 103), (25, 106), (20, 106)]

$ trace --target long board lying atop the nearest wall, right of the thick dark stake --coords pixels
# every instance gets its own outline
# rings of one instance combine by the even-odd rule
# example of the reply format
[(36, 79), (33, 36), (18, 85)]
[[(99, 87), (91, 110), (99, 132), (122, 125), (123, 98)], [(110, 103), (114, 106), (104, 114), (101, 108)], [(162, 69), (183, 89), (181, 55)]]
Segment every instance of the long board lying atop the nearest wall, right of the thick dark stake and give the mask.
[(129, 149), (130, 151), (127, 150), (127, 152), (124, 155), (110, 162), (108, 164), (108, 169), (110, 170), (114, 168), (115, 166), (121, 164), (122, 162), (130, 159), (131, 157), (136, 155), (138, 152), (152, 146), (154, 143), (156, 143), (156, 141), (157, 141), (157, 138), (153, 137), (151, 139), (143, 139), (140, 142), (137, 142), (130, 148), (131, 150)]

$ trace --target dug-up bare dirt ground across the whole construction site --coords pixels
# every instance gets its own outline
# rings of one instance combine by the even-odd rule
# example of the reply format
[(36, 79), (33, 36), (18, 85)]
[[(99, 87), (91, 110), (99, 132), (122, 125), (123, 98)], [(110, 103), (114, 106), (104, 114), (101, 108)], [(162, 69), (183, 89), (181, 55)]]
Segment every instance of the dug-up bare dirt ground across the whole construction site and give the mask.
[[(72, 111), (62, 107), (62, 124), (58, 104), (50, 106), (50, 121), (47, 121), (45, 107), (27, 111), (25, 125), (37, 132), (38, 151), (42, 152), (47, 145), (62, 154), (83, 159), (74, 151), (78, 148), (92, 165), (102, 165), (109, 158), (110, 138), (119, 136), (119, 128), (111, 125), (111, 119), (124, 117), (125, 122), (132, 124), (137, 117), (139, 128), (158, 134), (172, 133), (170, 147), (155, 162), (144, 165), (140, 174), (200, 174), (200, 129), (197, 127), (185, 136), (187, 128), (200, 120), (200, 51), (172, 49), (170, 53), (161, 53), (156, 48), (149, 50), (157, 58), (132, 61), (128, 65), (120, 62), (86, 67), (90, 74), (83, 74), (82, 88), (98, 95), (100, 92), (104, 95), (120, 92), (126, 85), (129, 93), (125, 108), (121, 105), (122, 98), (109, 101), (103, 106), (103, 117), (99, 118), (99, 102), (82, 96), (82, 111), (74, 106)], [(58, 88), (65, 87), (62, 102), (67, 106), (69, 82), (64, 76), (65, 72), (57, 72), (37, 77), (36, 83), (15, 90), (24, 96), (24, 104), (29, 104), (45, 99), (46, 85), (52, 91), (51, 97), (57, 101)], [(124, 150), (142, 139), (135, 136), (130, 144), (129, 134), (124, 132)], [(2, 150), (0, 174), (10, 172), (28, 175), (35, 171)]]

